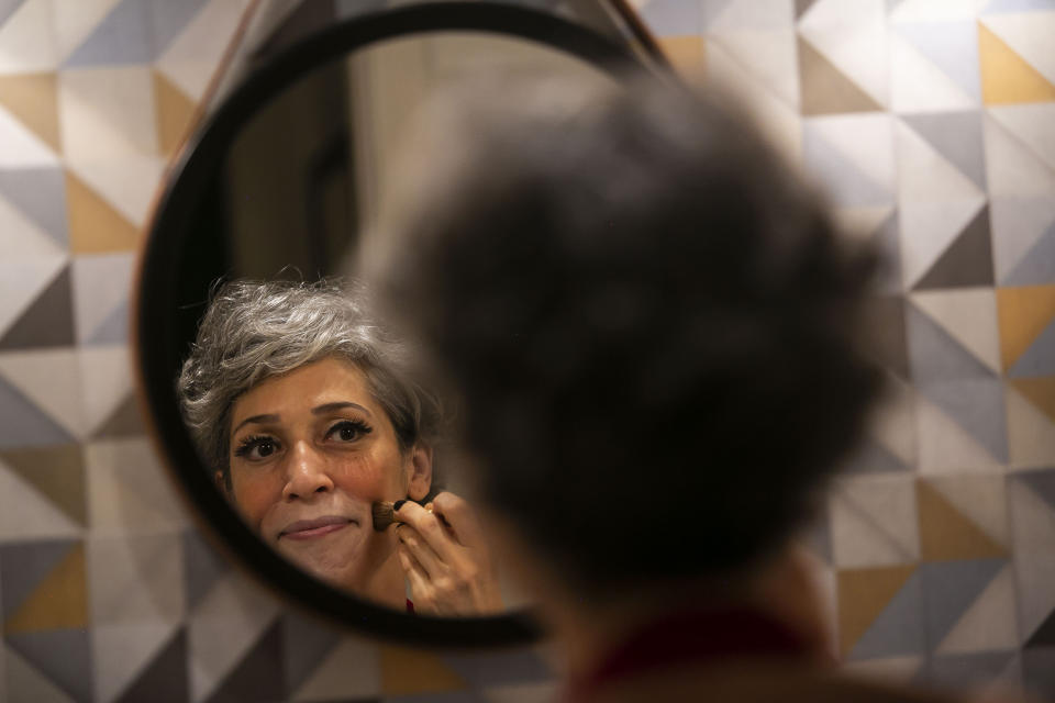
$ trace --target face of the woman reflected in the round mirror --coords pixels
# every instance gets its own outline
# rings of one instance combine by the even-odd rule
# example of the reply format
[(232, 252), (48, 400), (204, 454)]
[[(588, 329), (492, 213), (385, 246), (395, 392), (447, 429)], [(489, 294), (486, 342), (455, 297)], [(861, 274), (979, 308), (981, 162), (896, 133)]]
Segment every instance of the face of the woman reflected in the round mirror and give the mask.
[(286, 558), (335, 585), (402, 606), (391, 535), (373, 528), (371, 503), (420, 500), (431, 451), (401, 450), (363, 372), (327, 358), (271, 377), (231, 413), (231, 498)]

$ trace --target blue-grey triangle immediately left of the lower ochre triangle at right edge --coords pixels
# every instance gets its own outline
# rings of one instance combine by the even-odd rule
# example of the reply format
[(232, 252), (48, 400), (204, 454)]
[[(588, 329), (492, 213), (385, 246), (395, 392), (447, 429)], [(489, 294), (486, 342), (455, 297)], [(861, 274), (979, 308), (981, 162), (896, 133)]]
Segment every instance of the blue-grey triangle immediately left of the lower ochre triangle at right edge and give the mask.
[(1008, 460), (1007, 400), (999, 378), (936, 381), (919, 386), (919, 389), (993, 458)]

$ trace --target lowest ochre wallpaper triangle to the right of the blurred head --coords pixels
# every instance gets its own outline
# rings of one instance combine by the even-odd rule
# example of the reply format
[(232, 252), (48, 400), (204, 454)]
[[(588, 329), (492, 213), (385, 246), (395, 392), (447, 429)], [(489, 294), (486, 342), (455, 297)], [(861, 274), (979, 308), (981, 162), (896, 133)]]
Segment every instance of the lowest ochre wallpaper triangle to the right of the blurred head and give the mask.
[(904, 585), (915, 565), (840, 571), (839, 646), (845, 656)]

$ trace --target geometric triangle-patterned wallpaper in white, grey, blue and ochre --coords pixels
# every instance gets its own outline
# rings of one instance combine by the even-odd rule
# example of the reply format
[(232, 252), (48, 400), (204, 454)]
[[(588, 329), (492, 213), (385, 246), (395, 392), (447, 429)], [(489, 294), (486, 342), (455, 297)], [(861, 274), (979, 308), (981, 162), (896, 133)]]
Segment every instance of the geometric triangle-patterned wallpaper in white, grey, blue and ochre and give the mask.
[[(893, 392), (811, 544), (854, 669), (1055, 695), (1055, 1), (640, 0), (896, 266)], [(544, 700), (208, 547), (131, 398), (134, 250), (245, 0), (0, 0), (0, 700)]]

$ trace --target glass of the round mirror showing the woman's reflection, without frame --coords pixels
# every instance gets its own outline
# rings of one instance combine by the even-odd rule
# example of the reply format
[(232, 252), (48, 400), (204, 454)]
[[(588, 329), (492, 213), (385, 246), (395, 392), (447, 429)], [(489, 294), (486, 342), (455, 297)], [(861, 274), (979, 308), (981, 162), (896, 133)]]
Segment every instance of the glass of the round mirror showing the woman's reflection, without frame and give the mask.
[(192, 213), (193, 267), (179, 277), (178, 393), (216, 490), (296, 566), (399, 611), (474, 616), (523, 602), (457, 487), (443, 403), (412, 380), (366, 291), (332, 277), (385, 236), (374, 222), (420, 109), (496, 72), (611, 80), (554, 49), (475, 33), (318, 66), (230, 144)]

